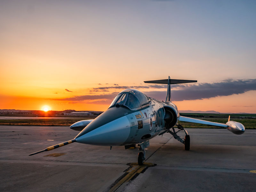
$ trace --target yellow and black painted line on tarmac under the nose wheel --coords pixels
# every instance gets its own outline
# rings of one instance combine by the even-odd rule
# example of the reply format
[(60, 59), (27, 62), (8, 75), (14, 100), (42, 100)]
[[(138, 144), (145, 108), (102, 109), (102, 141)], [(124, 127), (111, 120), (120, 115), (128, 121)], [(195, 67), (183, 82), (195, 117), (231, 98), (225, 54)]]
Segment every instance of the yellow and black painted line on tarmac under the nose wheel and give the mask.
[(124, 183), (129, 182), (137, 173), (141, 173), (146, 167), (153, 167), (156, 166), (156, 164), (152, 163), (144, 163), (143, 165), (138, 165), (138, 163), (130, 163), (132, 166), (128, 171), (126, 171), (128, 174), (125, 175), (120, 181), (116, 183), (112, 188), (110, 188), (109, 192), (114, 192), (117, 188), (119, 188)]

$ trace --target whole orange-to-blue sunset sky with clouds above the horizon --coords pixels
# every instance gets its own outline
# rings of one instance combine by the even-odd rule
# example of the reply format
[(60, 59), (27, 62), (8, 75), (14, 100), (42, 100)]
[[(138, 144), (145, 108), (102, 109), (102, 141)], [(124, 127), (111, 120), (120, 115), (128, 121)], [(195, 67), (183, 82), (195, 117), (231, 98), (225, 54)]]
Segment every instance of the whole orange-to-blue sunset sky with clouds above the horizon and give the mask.
[[(256, 113), (256, 1), (1, 1), (0, 109), (99, 110), (135, 88)], [(43, 110), (43, 109), (42, 109)]]

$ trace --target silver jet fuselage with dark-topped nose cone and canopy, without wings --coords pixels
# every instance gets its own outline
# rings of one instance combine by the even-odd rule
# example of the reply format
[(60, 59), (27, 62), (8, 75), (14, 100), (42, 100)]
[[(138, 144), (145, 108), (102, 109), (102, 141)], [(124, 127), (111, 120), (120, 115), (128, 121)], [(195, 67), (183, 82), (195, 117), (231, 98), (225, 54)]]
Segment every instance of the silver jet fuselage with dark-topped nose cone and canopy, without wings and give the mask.
[[(131, 99), (133, 104), (129, 103)], [(166, 130), (166, 108), (175, 111), (177, 123), (179, 112), (173, 103), (148, 98), (144, 93), (134, 89), (124, 90), (117, 95), (105, 112), (76, 136), (76, 142), (121, 146), (152, 139)]]

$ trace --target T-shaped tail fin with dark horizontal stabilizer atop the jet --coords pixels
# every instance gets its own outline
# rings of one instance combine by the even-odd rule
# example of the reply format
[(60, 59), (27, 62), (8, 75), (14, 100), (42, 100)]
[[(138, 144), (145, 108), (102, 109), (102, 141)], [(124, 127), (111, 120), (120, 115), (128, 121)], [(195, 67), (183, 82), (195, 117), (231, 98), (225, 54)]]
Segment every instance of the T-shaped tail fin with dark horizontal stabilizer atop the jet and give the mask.
[(144, 81), (144, 83), (157, 83), (157, 84), (168, 84), (167, 85), (167, 94), (165, 102), (171, 102), (171, 84), (181, 84), (181, 83), (196, 83), (196, 80), (183, 80), (183, 79), (171, 79), (169, 76), (168, 79), (153, 80), (153, 81)]

